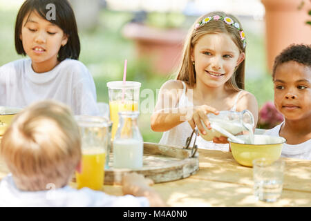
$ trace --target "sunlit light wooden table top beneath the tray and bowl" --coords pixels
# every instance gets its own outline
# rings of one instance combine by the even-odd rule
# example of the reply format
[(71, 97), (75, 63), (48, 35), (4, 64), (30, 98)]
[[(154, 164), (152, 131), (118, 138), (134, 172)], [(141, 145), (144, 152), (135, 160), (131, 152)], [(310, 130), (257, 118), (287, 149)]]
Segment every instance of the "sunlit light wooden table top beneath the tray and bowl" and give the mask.
[[(200, 169), (195, 175), (155, 184), (153, 189), (169, 206), (311, 206), (311, 161), (283, 159), (283, 192), (273, 203), (254, 198), (252, 168), (241, 166), (232, 153), (223, 151), (200, 149)], [(0, 161), (0, 179), (6, 173), (6, 166)], [(104, 191), (122, 195), (121, 186), (104, 186)]]

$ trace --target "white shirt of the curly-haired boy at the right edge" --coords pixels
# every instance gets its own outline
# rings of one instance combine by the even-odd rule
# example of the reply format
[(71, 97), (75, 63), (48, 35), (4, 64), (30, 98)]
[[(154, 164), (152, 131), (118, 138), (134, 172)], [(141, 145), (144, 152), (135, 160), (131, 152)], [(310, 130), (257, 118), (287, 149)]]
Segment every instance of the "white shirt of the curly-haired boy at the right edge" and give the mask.
[[(267, 130), (265, 132), (265, 135), (279, 137), (281, 126), (283, 123), (284, 122), (270, 130)], [(281, 156), (311, 160), (311, 139), (301, 144), (283, 144)]]

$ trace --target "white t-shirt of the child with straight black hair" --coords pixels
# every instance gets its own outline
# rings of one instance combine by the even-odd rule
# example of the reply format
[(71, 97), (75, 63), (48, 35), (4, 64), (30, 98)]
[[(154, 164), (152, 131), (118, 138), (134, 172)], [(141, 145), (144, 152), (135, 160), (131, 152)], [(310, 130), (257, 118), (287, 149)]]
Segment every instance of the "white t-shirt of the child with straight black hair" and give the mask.
[(98, 114), (94, 80), (82, 62), (65, 59), (46, 73), (35, 73), (31, 64), (31, 59), (19, 59), (0, 67), (0, 106), (24, 108), (55, 99), (75, 115)]

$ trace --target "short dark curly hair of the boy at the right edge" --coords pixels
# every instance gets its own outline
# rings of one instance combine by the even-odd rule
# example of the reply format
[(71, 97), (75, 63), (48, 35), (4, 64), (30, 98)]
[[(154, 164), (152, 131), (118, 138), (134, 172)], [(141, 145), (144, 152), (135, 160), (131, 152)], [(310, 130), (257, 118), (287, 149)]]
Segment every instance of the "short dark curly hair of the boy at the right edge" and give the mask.
[(272, 77), (274, 79), (276, 68), (285, 62), (296, 61), (299, 64), (311, 67), (311, 45), (291, 44), (274, 59)]

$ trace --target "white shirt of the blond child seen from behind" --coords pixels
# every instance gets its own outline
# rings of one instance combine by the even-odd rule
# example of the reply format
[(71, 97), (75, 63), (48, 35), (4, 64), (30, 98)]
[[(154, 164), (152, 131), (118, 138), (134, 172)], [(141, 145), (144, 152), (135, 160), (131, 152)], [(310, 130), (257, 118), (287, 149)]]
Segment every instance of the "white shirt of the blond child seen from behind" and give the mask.
[(20, 191), (12, 174), (0, 182), (0, 206), (31, 207), (147, 207), (149, 200), (133, 195), (115, 196), (88, 188), (73, 189), (70, 186), (47, 191)]

